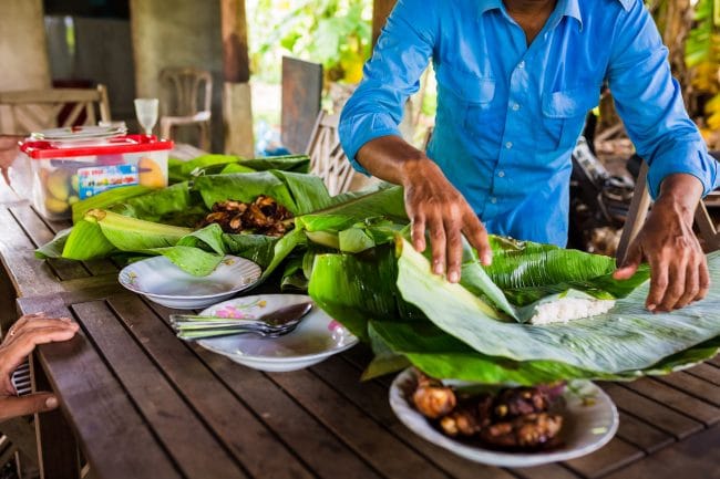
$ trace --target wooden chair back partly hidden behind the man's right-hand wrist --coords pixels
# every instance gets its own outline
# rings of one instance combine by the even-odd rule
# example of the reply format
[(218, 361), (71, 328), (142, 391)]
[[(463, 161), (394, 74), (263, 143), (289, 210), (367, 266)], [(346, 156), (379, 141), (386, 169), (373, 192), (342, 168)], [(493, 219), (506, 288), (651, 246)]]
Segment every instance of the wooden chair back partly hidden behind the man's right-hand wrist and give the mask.
[[(616, 258), (620, 263), (625, 260), (630, 243), (638, 232), (640, 232), (642, 225), (645, 225), (645, 220), (647, 219), (652, 204), (648, 190), (647, 176), (648, 165), (642, 162), (635, 183), (632, 201), (630, 201), (630, 208), (628, 210), (627, 219), (625, 220), (625, 226), (623, 227), (623, 233), (620, 235), (620, 242), (617, 247)], [(700, 200), (698, 209), (695, 212), (695, 222), (698, 227), (698, 237), (704, 243), (704, 249), (707, 251), (720, 249), (720, 235), (718, 235), (703, 200)]]

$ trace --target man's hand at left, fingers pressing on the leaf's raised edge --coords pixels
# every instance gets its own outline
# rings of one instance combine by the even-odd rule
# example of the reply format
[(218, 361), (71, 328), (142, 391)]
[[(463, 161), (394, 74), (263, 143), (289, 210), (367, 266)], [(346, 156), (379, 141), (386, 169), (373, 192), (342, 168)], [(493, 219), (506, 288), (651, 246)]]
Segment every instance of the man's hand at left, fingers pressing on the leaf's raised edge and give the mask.
[(442, 274), (446, 270), (450, 282), (460, 281), (462, 235), (477, 250), (482, 263), (491, 263), (492, 250), (485, 227), (434, 162), (425, 157), (407, 163), (402, 186), (405, 209), (412, 221), (413, 246), (424, 251), (425, 230), (430, 232), (434, 273)]

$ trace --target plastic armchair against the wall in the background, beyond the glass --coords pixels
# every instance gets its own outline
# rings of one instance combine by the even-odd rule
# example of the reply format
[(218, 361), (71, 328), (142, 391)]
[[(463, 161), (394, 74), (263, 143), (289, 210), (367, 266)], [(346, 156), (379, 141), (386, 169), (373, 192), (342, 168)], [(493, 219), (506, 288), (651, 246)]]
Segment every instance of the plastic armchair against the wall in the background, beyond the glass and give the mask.
[(161, 72), (160, 81), (168, 93), (161, 102), (165, 113), (160, 118), (161, 136), (172, 138), (173, 128), (194, 125), (199, 128), (199, 147), (208, 150), (213, 98), (210, 73), (193, 67), (172, 67)]

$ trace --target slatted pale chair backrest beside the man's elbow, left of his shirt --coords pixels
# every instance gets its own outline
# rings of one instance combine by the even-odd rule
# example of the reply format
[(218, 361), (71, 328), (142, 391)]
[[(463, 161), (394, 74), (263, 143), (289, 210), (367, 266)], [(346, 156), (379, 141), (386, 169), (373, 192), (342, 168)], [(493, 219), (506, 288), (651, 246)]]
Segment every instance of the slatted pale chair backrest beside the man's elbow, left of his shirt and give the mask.
[(338, 114), (331, 115), (321, 111), (306, 149), (310, 157), (310, 173), (322, 178), (330, 195), (362, 189), (377, 181), (352, 168), (340, 145), (339, 119)]

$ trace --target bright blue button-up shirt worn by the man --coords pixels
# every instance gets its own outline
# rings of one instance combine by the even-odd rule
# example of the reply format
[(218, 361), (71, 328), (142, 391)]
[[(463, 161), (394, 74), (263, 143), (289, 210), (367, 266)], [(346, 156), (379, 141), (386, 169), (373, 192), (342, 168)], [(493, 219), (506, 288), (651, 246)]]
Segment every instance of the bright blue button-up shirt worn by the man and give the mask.
[(399, 0), (342, 111), (357, 169), (367, 142), (399, 135), (432, 58), (438, 113), (428, 156), (491, 232), (567, 242), (570, 154), (607, 81), (648, 184), (687, 173), (714, 187), (716, 164), (688, 118), (667, 49), (641, 0), (558, 0), (528, 46), (502, 0)]

